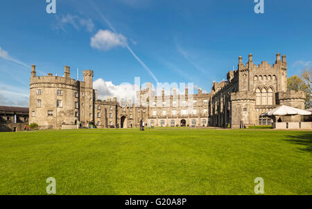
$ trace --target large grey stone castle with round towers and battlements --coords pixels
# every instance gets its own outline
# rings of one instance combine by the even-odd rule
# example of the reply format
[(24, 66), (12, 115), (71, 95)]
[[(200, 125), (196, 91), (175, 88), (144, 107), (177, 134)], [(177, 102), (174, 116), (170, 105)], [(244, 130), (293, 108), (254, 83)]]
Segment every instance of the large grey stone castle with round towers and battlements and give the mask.
[(93, 89), (92, 70), (83, 71), (83, 81), (64, 76), (36, 76), (32, 66), (29, 122), (41, 128), (78, 128), (90, 124), (97, 128), (130, 128), (144, 121), (154, 126), (241, 126), (271, 124), (261, 113), (280, 105), (304, 109), (304, 92), (287, 91), (286, 56), (277, 53), (275, 64), (254, 65), (252, 54), (244, 65), (227, 73), (227, 81), (213, 83), (210, 93), (155, 96), (152, 84), (137, 92), (139, 104), (121, 106), (113, 99), (98, 100)]

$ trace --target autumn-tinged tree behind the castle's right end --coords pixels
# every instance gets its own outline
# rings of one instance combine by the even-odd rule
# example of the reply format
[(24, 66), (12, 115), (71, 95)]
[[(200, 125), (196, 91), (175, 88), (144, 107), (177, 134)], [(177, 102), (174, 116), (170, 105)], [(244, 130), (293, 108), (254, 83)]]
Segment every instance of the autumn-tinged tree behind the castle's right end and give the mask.
[(304, 69), (302, 71), (301, 77), (295, 75), (291, 76), (287, 80), (287, 88), (288, 90), (295, 90), (299, 91), (302, 90), (306, 92), (306, 101), (305, 101), (305, 106), (306, 108), (311, 108), (311, 72), (312, 68), (307, 70)]

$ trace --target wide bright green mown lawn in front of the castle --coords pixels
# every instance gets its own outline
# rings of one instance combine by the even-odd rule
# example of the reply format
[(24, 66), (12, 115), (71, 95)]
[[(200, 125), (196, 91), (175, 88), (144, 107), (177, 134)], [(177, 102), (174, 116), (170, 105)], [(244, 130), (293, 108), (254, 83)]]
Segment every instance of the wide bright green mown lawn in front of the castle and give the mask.
[(312, 131), (0, 133), (0, 194), (312, 194)]

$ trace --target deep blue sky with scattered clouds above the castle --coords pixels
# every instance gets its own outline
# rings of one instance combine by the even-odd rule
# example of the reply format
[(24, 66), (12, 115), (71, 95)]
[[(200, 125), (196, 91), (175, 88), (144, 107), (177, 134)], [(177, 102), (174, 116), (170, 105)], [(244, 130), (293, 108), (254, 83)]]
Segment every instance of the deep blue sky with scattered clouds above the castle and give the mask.
[(60, 76), (69, 65), (72, 78), (79, 68), (80, 80), (93, 69), (105, 96), (135, 76), (155, 83), (153, 75), (210, 92), (249, 53), (254, 62), (286, 54), (288, 76), (312, 64), (310, 0), (265, 0), (264, 14), (253, 0), (56, 0), (56, 14), (47, 4), (0, 3), (0, 105), (28, 105), (33, 64)]

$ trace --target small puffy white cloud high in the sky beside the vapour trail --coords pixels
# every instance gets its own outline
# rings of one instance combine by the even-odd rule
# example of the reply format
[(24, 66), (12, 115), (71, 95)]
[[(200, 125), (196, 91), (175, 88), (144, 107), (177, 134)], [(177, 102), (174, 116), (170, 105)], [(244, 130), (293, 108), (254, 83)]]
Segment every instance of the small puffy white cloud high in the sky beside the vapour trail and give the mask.
[(99, 30), (91, 38), (91, 47), (103, 51), (108, 51), (114, 47), (125, 47), (127, 38), (122, 34), (116, 34), (110, 30)]

